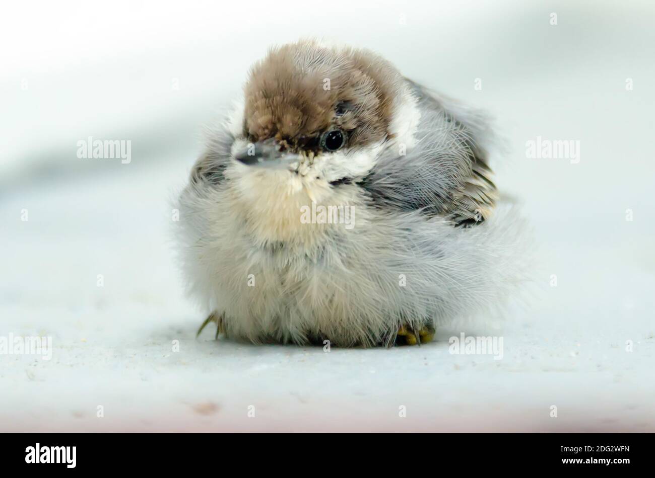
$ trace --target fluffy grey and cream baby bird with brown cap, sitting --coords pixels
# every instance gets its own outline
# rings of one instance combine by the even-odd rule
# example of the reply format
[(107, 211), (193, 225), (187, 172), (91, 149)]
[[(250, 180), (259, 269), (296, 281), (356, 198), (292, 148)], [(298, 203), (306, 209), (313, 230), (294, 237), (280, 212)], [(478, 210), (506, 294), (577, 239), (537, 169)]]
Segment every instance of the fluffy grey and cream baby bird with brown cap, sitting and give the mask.
[(179, 197), (200, 331), (413, 345), (502, 302), (521, 220), (497, 207), (489, 137), (483, 116), (367, 50), (270, 50)]

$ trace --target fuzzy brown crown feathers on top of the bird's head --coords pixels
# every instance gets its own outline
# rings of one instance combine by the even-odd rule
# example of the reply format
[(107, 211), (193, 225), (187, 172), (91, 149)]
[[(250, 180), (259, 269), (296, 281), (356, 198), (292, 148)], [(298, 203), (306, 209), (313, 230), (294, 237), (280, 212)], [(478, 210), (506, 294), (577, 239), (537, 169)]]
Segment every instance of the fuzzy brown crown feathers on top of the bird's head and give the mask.
[(332, 128), (348, 133), (348, 147), (381, 141), (390, 135), (401, 80), (390, 63), (369, 52), (312, 41), (274, 48), (255, 63), (244, 88), (244, 134), (291, 148), (315, 145)]

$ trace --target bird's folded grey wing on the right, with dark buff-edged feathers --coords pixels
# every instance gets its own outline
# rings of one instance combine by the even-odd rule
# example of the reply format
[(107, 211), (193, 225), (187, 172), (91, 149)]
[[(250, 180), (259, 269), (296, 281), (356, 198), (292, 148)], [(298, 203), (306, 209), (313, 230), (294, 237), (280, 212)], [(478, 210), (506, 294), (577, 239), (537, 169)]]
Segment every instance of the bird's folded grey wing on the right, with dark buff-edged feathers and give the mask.
[(440, 216), (469, 226), (492, 213), (498, 194), (487, 165), (484, 116), (407, 80), (421, 120), (417, 144), (399, 156), (387, 148), (357, 184), (373, 205)]

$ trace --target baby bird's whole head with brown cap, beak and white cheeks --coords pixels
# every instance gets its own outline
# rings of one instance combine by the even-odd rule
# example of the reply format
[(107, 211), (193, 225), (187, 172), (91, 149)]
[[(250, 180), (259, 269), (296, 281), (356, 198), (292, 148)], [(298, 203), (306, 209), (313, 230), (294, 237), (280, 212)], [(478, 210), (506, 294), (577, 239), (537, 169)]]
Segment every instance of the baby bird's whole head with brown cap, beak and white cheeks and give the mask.
[(401, 116), (412, 99), (371, 52), (316, 41), (274, 48), (250, 71), (231, 154), (242, 175), (324, 200), (365, 177), (390, 141), (407, 141), (412, 121)]

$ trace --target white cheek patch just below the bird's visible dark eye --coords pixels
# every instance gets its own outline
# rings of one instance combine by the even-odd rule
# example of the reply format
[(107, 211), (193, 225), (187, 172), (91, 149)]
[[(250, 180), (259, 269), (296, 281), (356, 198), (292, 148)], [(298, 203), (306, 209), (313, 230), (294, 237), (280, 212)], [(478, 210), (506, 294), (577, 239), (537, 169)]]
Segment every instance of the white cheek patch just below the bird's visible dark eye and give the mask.
[(373, 169), (382, 150), (383, 143), (379, 142), (350, 152), (339, 150), (322, 154), (314, 163), (314, 167), (327, 182), (343, 178), (364, 177)]

